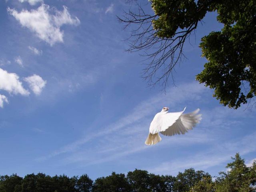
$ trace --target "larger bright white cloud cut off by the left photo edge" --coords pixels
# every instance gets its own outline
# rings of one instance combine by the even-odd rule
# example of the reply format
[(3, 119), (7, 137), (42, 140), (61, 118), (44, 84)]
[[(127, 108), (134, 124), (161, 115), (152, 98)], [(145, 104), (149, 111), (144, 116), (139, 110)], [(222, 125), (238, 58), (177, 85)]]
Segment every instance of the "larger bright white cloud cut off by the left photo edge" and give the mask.
[(28, 90), (24, 89), (19, 76), (16, 73), (8, 73), (0, 68), (0, 90), (5, 90), (9, 94), (29, 95)]

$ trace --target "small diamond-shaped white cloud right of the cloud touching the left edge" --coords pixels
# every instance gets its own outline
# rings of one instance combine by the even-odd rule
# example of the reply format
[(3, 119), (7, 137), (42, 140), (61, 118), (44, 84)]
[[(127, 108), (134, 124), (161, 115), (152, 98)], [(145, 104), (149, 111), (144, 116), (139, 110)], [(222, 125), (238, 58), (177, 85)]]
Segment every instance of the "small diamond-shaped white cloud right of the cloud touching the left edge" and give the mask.
[(46, 85), (46, 80), (43, 80), (42, 77), (36, 74), (24, 78), (24, 81), (28, 82), (30, 89), (37, 95), (42, 92)]

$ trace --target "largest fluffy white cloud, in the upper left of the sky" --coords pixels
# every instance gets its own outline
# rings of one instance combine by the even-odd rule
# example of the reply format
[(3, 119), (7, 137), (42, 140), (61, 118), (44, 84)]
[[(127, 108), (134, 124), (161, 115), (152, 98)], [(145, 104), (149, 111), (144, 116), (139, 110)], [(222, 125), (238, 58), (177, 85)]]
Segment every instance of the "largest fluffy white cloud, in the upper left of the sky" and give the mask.
[(22, 10), (17, 12), (15, 9), (7, 8), (10, 15), (14, 16), (20, 24), (36, 33), (40, 39), (46, 41), (51, 46), (56, 42), (64, 42), (64, 32), (60, 30), (63, 24), (77, 26), (80, 20), (77, 17), (71, 17), (68, 8), (63, 6), (63, 11), (50, 8), (42, 4), (37, 10)]

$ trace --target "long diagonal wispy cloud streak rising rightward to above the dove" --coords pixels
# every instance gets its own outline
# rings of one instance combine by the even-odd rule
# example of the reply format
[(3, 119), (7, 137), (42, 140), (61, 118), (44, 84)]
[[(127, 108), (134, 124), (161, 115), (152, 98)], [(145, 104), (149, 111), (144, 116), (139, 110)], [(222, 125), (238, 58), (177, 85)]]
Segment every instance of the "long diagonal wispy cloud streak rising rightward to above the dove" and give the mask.
[[(138, 106), (136, 106), (130, 115), (124, 116), (120, 118), (118, 121), (107, 125), (101, 130), (98, 130), (95, 133), (91, 133), (90, 135), (86, 136), (85, 138), (79, 139), (71, 144), (68, 144), (59, 150), (56, 150), (55, 152), (52, 152), (49, 155), (42, 156), (38, 158), (37, 160), (47, 160), (49, 158), (52, 158), (54, 156), (58, 156), (60, 154), (68, 153), (68, 152), (74, 152), (80, 146), (83, 146), (87, 142), (90, 142), (92, 140), (95, 140), (97, 138), (105, 138), (108, 139), (108, 136), (112, 135), (113, 132), (116, 132), (118, 130), (126, 130), (127, 132), (134, 131), (136, 129), (133, 126), (133, 128), (130, 128), (133, 124), (136, 124), (136, 122), (144, 120), (147, 116), (152, 115), (152, 111), (156, 111), (159, 106), (162, 108), (164, 104), (169, 104), (169, 106), (172, 106), (172, 108), (178, 106), (180, 103), (188, 100), (188, 99), (194, 99), (194, 100), (200, 100), (200, 94), (202, 94), (206, 89), (203, 85), (197, 84), (197, 83), (190, 83), (190, 84), (183, 84), (179, 87), (179, 89), (173, 88), (169, 94), (158, 94), (157, 96), (154, 96), (152, 98), (149, 98), (148, 100), (145, 100)], [(178, 96), (177, 96), (178, 95)], [(188, 97), (189, 96), (189, 97)], [(146, 110), (145, 110), (146, 109)], [(180, 109), (182, 110), (182, 109)], [(150, 119), (152, 116), (150, 116)], [(148, 120), (147, 119), (147, 122)], [(148, 126), (148, 124), (147, 124)], [(143, 130), (140, 128), (140, 130)], [(146, 132), (148, 132), (148, 128), (145, 127)], [(147, 134), (147, 133), (146, 133)], [(142, 142), (144, 144), (144, 142)]]

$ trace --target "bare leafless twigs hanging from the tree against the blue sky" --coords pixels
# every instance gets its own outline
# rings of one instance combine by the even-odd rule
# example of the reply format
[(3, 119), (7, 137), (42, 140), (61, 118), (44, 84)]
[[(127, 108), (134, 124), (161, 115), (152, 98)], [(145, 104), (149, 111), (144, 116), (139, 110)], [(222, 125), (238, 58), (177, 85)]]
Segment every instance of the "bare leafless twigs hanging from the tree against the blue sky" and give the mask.
[[(118, 20), (124, 23), (123, 29), (130, 25), (135, 26), (130, 37), (127, 38), (130, 48), (126, 51), (137, 52), (143, 50), (144, 53), (140, 55), (146, 57), (144, 61), (147, 61), (147, 64), (145, 64), (146, 67), (142, 77), (150, 86), (159, 84), (165, 90), (170, 76), (174, 83), (172, 76), (174, 67), (186, 58), (183, 52), (184, 43), (190, 37), (190, 34), (195, 32), (198, 21), (193, 22), (187, 28), (179, 28), (172, 38), (161, 38), (157, 35), (158, 30), (154, 29), (153, 22), (163, 11), (150, 15), (145, 13), (138, 3), (136, 3), (136, 6), (138, 8), (136, 12), (129, 10), (124, 12), (122, 18), (117, 16)], [(158, 72), (160, 72), (160, 75)]]

